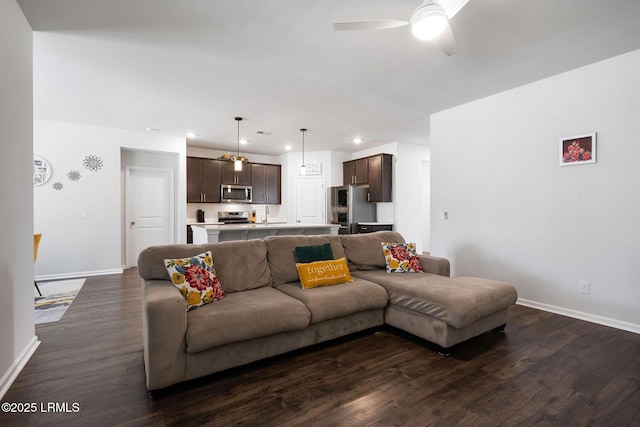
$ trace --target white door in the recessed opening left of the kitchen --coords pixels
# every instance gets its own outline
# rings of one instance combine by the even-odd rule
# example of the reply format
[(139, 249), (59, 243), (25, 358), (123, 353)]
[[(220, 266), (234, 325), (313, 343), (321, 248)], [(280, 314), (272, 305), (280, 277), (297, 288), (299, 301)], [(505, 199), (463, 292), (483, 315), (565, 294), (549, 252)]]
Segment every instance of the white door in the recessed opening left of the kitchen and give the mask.
[(127, 166), (125, 191), (126, 262), (134, 267), (143, 249), (174, 243), (173, 171)]

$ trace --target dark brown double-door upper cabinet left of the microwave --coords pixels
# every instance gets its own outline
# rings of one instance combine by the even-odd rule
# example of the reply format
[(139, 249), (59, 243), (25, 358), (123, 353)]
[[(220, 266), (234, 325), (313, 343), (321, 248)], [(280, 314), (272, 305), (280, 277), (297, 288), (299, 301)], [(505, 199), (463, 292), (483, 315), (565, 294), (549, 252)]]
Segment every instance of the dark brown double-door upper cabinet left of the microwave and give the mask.
[(187, 203), (220, 203), (222, 162), (187, 157)]

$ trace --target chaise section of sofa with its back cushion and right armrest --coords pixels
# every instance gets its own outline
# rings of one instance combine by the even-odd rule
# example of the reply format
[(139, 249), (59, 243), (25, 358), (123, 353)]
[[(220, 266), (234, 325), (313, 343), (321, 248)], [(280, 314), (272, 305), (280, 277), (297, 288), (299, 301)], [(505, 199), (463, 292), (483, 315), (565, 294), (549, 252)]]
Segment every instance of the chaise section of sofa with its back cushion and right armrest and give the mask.
[(439, 352), (490, 330), (503, 330), (513, 286), (476, 277), (451, 278), (444, 258), (419, 256), (424, 273), (387, 273), (383, 242), (406, 243), (397, 232), (342, 236), (351, 274), (385, 288), (385, 323), (440, 346)]

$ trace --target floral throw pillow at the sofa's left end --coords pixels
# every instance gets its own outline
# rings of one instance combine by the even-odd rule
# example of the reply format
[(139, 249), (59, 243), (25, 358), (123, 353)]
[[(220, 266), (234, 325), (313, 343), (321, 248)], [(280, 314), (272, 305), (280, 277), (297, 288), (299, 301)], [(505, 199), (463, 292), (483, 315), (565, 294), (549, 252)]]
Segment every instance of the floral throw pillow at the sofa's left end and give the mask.
[(224, 298), (211, 251), (190, 258), (165, 259), (164, 266), (171, 282), (187, 301), (187, 311)]

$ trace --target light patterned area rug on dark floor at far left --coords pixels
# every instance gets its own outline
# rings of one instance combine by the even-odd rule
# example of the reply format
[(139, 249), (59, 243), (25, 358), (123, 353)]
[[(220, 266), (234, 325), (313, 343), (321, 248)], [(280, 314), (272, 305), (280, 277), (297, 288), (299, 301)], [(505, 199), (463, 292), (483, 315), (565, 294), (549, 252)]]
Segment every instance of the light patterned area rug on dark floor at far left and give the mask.
[(71, 306), (86, 279), (38, 282), (42, 296), (36, 291), (36, 325), (57, 322)]

